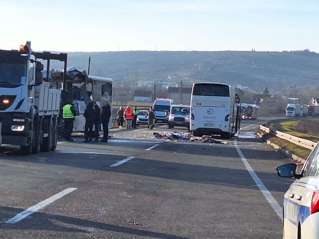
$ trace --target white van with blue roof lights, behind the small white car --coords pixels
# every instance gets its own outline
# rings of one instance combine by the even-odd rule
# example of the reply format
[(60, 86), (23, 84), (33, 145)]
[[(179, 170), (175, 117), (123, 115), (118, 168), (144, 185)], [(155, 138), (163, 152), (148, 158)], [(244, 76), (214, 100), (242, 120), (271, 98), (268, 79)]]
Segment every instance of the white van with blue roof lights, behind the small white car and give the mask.
[(171, 105), (174, 103), (171, 99), (155, 99), (153, 111), (155, 112), (155, 123), (167, 123)]

